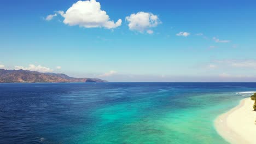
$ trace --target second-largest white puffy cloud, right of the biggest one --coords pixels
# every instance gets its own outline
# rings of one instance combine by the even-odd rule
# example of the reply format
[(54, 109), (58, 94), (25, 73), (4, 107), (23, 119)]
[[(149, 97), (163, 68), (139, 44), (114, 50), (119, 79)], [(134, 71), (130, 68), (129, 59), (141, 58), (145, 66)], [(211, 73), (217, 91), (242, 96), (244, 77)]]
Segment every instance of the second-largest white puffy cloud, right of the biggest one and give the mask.
[(140, 33), (147, 31), (149, 34), (153, 33), (150, 28), (156, 27), (161, 23), (158, 16), (143, 11), (126, 16), (125, 20), (129, 22), (128, 26), (131, 31), (138, 31)]

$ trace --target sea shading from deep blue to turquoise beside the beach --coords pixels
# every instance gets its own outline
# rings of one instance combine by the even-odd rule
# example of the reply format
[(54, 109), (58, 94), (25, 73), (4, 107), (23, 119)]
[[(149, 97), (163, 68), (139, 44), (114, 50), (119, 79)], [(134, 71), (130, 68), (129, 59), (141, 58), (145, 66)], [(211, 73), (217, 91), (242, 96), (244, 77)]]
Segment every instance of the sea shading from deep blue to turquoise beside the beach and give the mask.
[(256, 83), (1, 83), (0, 143), (226, 143)]

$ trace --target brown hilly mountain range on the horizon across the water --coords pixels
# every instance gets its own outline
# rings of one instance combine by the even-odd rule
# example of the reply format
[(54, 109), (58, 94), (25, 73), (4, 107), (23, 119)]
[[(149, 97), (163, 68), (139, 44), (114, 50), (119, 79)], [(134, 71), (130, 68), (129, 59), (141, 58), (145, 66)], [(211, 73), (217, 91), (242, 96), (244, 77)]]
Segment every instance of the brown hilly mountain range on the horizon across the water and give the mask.
[(39, 73), (30, 70), (0, 69), (0, 83), (11, 82), (107, 82), (101, 79), (74, 78), (65, 74)]

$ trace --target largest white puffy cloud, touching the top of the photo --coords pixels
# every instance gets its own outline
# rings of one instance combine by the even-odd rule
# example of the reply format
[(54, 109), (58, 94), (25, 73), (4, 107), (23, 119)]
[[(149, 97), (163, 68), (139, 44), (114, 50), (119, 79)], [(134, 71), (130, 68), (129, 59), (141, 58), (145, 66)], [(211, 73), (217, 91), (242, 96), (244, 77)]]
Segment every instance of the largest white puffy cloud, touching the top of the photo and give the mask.
[(63, 23), (69, 26), (113, 29), (121, 26), (122, 23), (121, 19), (117, 22), (110, 21), (106, 11), (101, 10), (101, 4), (96, 0), (78, 1), (66, 13), (64, 11), (56, 11), (55, 14), (60, 14), (64, 17)]

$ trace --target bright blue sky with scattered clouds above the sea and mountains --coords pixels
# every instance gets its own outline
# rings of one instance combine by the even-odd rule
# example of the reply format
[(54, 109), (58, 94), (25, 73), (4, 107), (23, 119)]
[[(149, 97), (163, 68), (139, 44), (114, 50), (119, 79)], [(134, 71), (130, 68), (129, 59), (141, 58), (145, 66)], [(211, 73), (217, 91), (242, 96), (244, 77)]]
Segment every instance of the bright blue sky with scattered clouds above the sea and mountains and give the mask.
[(109, 81), (256, 81), (254, 1), (98, 0), (100, 9), (92, 1), (1, 1), (0, 68)]

